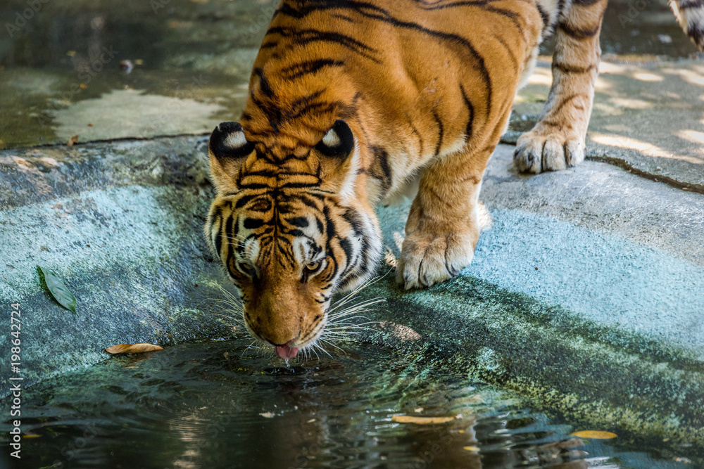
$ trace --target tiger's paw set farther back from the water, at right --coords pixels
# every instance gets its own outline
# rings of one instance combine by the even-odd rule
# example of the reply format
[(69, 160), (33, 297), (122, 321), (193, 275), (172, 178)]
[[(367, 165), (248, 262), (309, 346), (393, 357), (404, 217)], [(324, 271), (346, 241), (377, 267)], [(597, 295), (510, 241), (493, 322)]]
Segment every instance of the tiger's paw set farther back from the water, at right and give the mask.
[(516, 142), (513, 162), (520, 172), (539, 174), (577, 166), (584, 160), (584, 136), (538, 122)]

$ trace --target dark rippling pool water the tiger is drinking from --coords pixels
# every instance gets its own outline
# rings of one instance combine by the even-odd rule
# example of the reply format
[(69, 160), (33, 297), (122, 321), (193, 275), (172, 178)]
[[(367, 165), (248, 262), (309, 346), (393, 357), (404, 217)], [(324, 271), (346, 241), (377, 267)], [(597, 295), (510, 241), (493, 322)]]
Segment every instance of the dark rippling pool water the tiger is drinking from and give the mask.
[[(509, 392), (345, 344), (284, 361), (249, 340), (113, 356), (23, 393), (21, 468), (670, 468), (582, 440)], [(2, 403), (4, 408), (6, 402)], [(449, 416), (396, 423), (392, 416)], [(2, 425), (7, 447), (8, 421)], [(3, 451), (6, 456), (8, 451)], [(657, 459), (660, 458), (660, 461)], [(2, 461), (0, 460), (0, 463)], [(10, 464), (6, 462), (7, 464)], [(13, 467), (13, 466), (11, 466)], [(691, 466), (690, 466), (691, 467)]]

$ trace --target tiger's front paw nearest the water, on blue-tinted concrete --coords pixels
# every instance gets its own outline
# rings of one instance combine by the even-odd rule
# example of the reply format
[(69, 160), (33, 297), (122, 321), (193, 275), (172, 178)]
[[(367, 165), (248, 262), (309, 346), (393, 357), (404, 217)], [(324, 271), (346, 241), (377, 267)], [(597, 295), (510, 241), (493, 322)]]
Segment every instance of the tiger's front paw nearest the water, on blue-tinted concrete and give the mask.
[(398, 283), (406, 290), (448, 280), (472, 262), (479, 233), (444, 236), (408, 236), (398, 259)]

